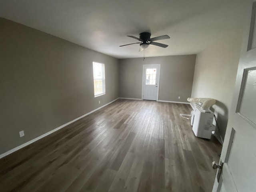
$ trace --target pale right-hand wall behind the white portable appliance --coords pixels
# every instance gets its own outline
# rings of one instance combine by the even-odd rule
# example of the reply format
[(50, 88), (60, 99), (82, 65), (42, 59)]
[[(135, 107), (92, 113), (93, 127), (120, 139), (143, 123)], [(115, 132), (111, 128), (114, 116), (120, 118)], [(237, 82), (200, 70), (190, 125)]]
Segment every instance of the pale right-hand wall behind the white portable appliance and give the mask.
[(214, 98), (220, 134), (225, 136), (242, 44), (242, 30), (233, 30), (196, 56), (192, 97)]

